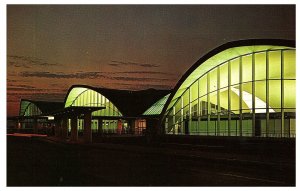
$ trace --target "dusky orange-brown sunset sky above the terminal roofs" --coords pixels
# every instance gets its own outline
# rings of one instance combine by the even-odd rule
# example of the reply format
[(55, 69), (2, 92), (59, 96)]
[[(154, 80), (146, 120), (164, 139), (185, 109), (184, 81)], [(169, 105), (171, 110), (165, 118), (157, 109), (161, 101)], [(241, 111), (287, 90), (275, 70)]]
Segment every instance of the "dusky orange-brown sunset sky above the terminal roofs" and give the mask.
[(172, 89), (226, 42), (295, 39), (295, 6), (8, 5), (7, 114), (73, 84)]

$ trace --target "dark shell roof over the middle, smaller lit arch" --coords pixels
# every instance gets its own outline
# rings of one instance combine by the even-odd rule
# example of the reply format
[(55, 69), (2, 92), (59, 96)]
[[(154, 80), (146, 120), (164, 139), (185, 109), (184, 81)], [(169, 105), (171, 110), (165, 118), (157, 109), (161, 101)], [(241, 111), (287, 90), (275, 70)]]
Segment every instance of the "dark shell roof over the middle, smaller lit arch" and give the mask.
[(64, 103), (66, 103), (71, 90), (76, 87), (91, 89), (105, 96), (119, 109), (119, 111), (125, 117), (140, 116), (157, 100), (170, 93), (170, 90), (147, 89), (140, 91), (129, 91), (97, 88), (88, 85), (73, 85), (69, 88)]

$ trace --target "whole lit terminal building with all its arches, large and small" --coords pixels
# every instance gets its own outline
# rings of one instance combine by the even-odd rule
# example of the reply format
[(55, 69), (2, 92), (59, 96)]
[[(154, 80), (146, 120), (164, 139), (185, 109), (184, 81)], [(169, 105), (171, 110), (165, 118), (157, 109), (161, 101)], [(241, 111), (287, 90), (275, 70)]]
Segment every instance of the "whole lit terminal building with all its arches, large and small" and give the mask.
[(22, 100), (18, 121), (53, 116), (55, 134), (73, 140), (81, 132), (91, 140), (93, 133), (146, 128), (158, 135), (293, 138), (295, 56), (295, 41), (229, 42), (201, 57), (171, 91), (73, 85), (51, 110), (40, 108), (49, 108), (46, 102)]

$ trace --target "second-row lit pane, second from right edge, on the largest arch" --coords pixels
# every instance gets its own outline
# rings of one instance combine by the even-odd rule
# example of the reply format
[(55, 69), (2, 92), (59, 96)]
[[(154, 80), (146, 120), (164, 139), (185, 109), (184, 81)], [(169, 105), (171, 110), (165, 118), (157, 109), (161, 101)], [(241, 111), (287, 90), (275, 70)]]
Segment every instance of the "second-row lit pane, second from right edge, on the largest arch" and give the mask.
[(281, 81), (270, 80), (269, 81), (269, 105), (275, 110), (280, 112), (281, 108)]

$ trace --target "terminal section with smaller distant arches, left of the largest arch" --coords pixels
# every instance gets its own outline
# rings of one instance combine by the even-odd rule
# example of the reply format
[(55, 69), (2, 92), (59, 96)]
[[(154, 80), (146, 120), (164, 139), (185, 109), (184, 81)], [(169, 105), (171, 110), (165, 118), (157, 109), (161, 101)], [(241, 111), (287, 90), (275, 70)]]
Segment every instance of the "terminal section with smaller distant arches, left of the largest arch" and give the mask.
[(164, 106), (156, 102), (160, 103), (167, 94), (170, 90), (128, 91), (73, 85), (61, 103), (21, 100), (19, 116), (14, 118), (16, 127), (9, 128), (9, 132), (52, 131), (52, 135), (64, 139), (77, 141), (83, 136), (89, 142), (93, 134), (145, 135), (147, 123), (151, 126), (154, 119), (158, 121)]

